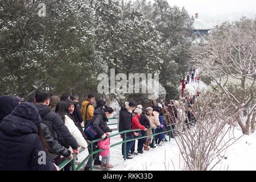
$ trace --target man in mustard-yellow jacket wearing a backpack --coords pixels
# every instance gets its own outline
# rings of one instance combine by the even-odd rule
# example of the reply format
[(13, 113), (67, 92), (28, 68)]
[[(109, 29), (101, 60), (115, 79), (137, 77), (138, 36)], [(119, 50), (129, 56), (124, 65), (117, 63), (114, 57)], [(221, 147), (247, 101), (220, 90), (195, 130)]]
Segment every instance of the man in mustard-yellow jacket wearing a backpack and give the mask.
[(88, 126), (88, 121), (92, 119), (93, 117), (93, 112), (94, 112), (94, 104), (95, 97), (93, 94), (89, 94), (88, 97), (82, 102), (82, 120), (84, 121), (84, 126)]

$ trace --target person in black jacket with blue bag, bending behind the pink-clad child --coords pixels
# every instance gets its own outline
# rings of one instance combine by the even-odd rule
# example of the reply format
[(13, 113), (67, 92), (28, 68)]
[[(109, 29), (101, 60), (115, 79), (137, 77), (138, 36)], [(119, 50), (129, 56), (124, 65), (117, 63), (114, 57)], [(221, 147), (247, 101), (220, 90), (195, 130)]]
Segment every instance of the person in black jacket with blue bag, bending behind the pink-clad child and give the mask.
[[(93, 125), (93, 128), (94, 130), (96, 131), (97, 133), (97, 137), (92, 139), (90, 138), (89, 135), (86, 135), (86, 137), (89, 138), (89, 140), (96, 140), (96, 139), (99, 139), (99, 138), (102, 138), (102, 139), (106, 139), (108, 136), (104, 133), (104, 131), (101, 129), (101, 127), (103, 126), (106, 126), (106, 122), (108, 122), (108, 117), (110, 116), (110, 114), (113, 113), (113, 109), (112, 107), (106, 107), (106, 108), (102, 108), (102, 107), (98, 107), (98, 109), (96, 109), (93, 113), (93, 117), (92, 119), (90, 120), (90, 123)], [(98, 150), (98, 146), (97, 146), (97, 143), (93, 143), (93, 151), (96, 151)], [(90, 146), (88, 147), (88, 151), (89, 153), (91, 152), (90, 151)], [(97, 154), (94, 154), (93, 155), (93, 160), (97, 160), (97, 163), (95, 163), (94, 161), (94, 165), (96, 164), (101, 164), (101, 161), (100, 159), (98, 159), (98, 157), (100, 156), (99, 153)], [(84, 168), (84, 171), (89, 171), (90, 169), (90, 165), (91, 165), (91, 158), (88, 159), (88, 162), (86, 163), (86, 166)]]

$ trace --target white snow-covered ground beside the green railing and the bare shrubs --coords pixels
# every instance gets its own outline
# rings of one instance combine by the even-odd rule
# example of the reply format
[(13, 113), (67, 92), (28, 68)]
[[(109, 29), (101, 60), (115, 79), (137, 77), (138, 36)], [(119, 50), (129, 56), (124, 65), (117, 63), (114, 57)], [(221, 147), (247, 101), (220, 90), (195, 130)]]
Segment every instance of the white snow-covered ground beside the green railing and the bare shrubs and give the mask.
[[(207, 85), (203, 81), (200, 82), (190, 82), (186, 85), (186, 89), (190, 93), (195, 94), (197, 90), (207, 89)], [(109, 123), (116, 123), (117, 119), (110, 120)], [(229, 125), (226, 125), (229, 127)], [(112, 125), (111, 128), (117, 128), (117, 125)], [(118, 131), (113, 131), (117, 133)], [(234, 137), (236, 139), (242, 136), (242, 131), (239, 126), (234, 127), (230, 131), (229, 137)], [(111, 138), (110, 143), (114, 144), (122, 139), (120, 136), (115, 136)], [(137, 144), (135, 149), (137, 150)], [(232, 144), (226, 151), (222, 154), (226, 157), (222, 158), (221, 162), (218, 163), (213, 170), (214, 171), (224, 171), (224, 170), (256, 170), (256, 133), (251, 135), (243, 135), (235, 143)], [(88, 151), (85, 150), (81, 152), (78, 156), (78, 163), (82, 161), (88, 155)], [(180, 171), (185, 170), (184, 162), (180, 154), (179, 147), (175, 139), (171, 138), (170, 142), (164, 142), (163, 146), (157, 146), (156, 148), (150, 148), (149, 151), (144, 151), (143, 154), (133, 155), (133, 159), (128, 159), (126, 161), (122, 158), (121, 144), (110, 148), (111, 163), (114, 168), (111, 170), (116, 171)], [(215, 163), (213, 162), (212, 165)], [(94, 168), (94, 170), (100, 170), (100, 167)]]

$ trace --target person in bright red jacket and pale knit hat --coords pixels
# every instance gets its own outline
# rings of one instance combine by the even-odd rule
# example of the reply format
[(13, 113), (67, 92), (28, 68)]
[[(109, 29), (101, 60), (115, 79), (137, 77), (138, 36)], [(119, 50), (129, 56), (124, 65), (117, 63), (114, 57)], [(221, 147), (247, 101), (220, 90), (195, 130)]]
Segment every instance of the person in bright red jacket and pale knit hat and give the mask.
[[(133, 117), (131, 119), (131, 129), (135, 130), (135, 129), (141, 129), (143, 131), (146, 131), (146, 127), (144, 127), (143, 125), (141, 125), (141, 123), (139, 122), (139, 118), (141, 117), (141, 113), (142, 113), (142, 105), (138, 105), (136, 107), (136, 109), (134, 110), (134, 113), (133, 113)], [(140, 131), (137, 131), (137, 133), (139, 133), (139, 137), (141, 137), (140, 135)], [(146, 138), (145, 138), (146, 139)], [(137, 146), (137, 150), (138, 150), (138, 153), (139, 154), (142, 154), (143, 153), (143, 144), (145, 143), (146, 141), (143, 140), (143, 139), (139, 139), (138, 140), (138, 146)], [(138, 155), (137, 152), (134, 152), (135, 151), (135, 142), (133, 144), (133, 147), (131, 147), (131, 154), (134, 154), (134, 155)]]

